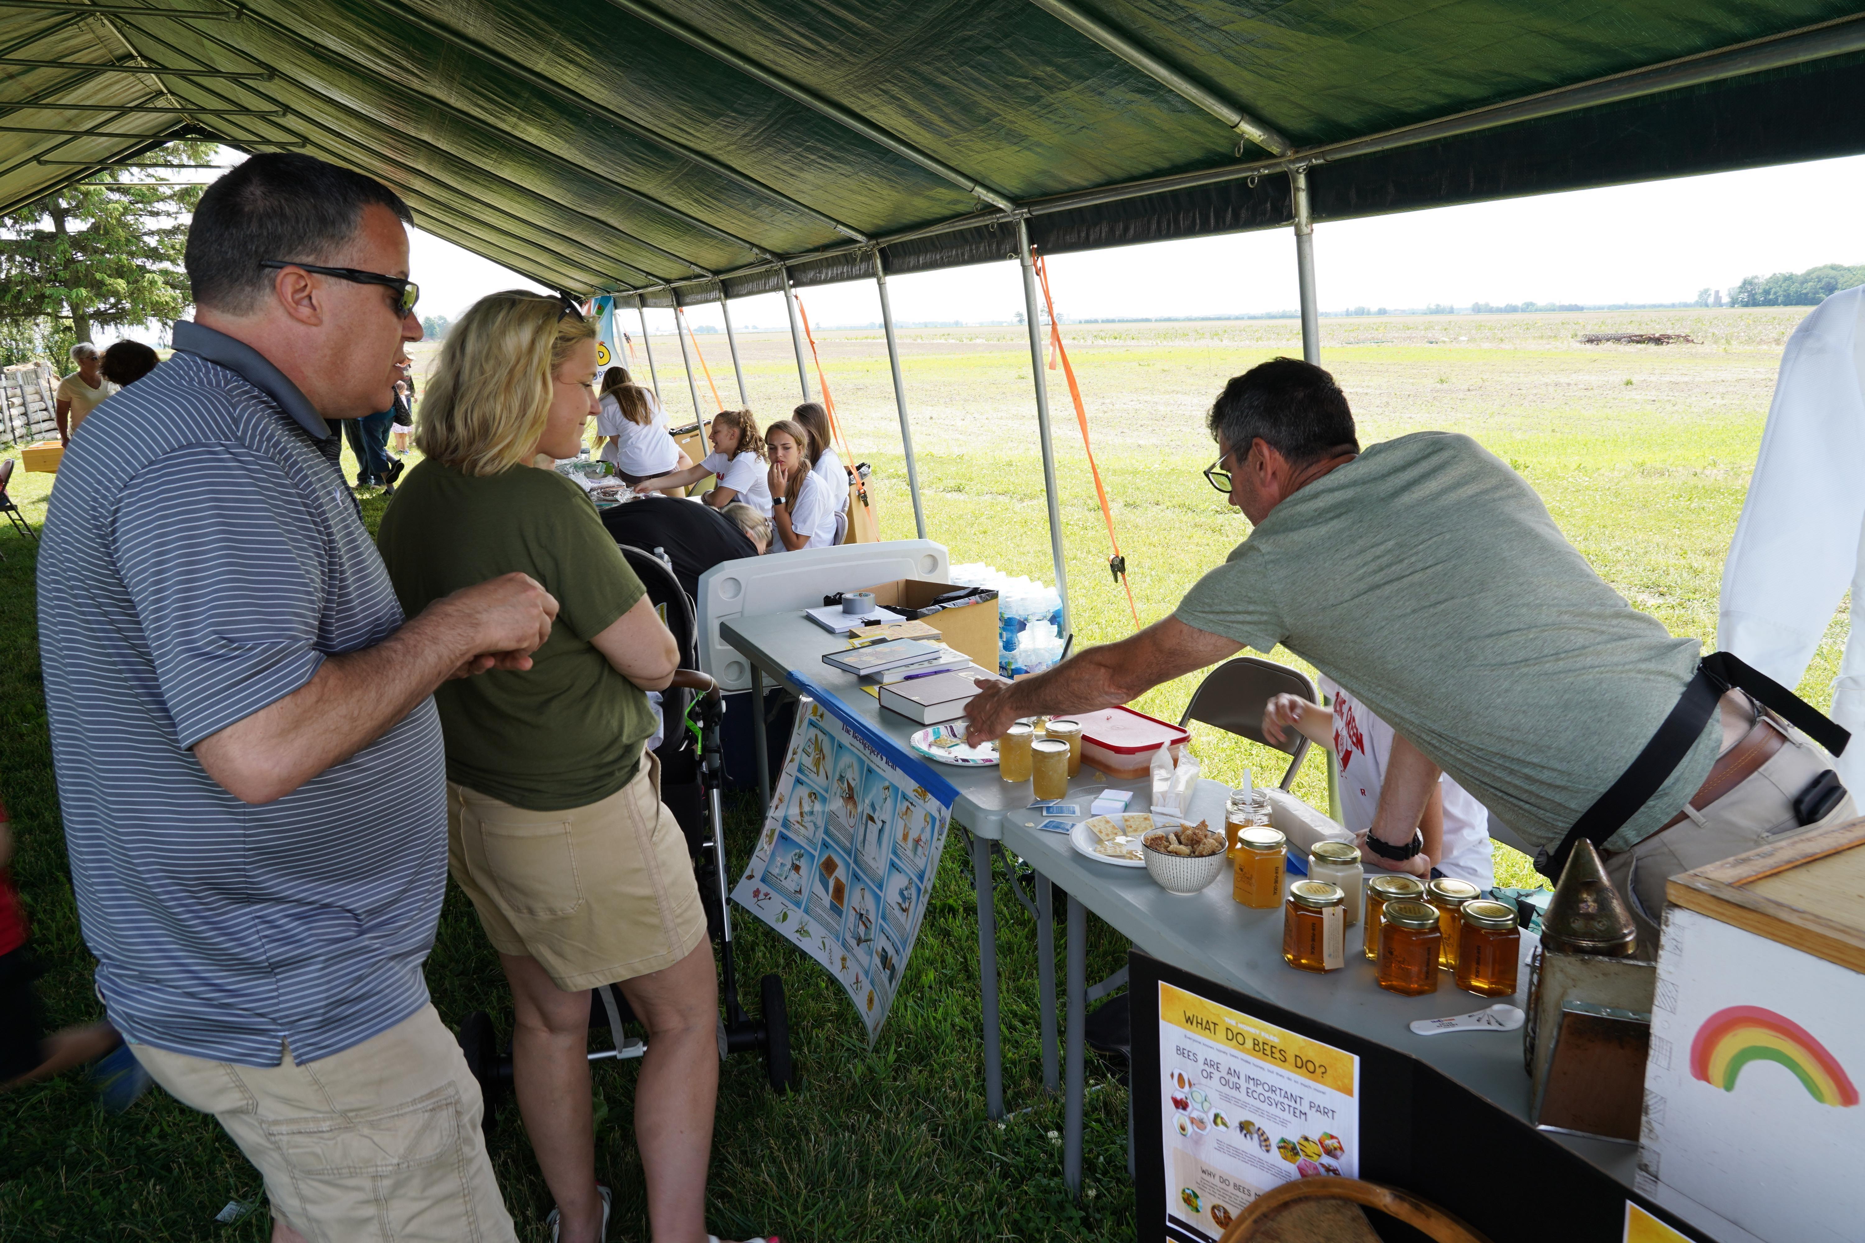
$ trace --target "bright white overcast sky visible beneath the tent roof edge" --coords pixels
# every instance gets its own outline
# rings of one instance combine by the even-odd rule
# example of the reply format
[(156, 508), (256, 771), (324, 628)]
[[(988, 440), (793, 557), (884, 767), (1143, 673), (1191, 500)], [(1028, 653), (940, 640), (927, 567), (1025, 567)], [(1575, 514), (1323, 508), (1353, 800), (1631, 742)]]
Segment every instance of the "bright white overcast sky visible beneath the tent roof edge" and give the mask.
[[(1865, 157), (1608, 190), (1442, 207), (1315, 227), (1322, 309), (1430, 302), (1686, 302), (1705, 285), (1865, 263)], [(421, 313), (457, 317), (524, 278), (423, 233)], [(1287, 229), (1057, 255), (1065, 319), (1222, 315), (1296, 306)], [(1022, 309), (1015, 263), (890, 278), (899, 321), (1007, 321)], [(815, 324), (880, 317), (873, 281), (804, 291)], [(718, 309), (692, 307), (696, 326)], [(666, 317), (660, 311), (658, 317)], [(649, 322), (660, 330), (656, 313)], [(778, 294), (733, 302), (735, 326), (783, 326)]]

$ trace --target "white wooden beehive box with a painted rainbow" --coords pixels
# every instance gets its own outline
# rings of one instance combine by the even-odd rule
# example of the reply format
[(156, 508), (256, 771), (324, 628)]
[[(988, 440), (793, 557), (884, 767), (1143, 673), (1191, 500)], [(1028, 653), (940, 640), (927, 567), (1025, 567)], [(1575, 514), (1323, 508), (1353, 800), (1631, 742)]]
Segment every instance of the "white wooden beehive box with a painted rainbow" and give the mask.
[(1665, 893), (1639, 1189), (1768, 1243), (1859, 1237), (1865, 818)]

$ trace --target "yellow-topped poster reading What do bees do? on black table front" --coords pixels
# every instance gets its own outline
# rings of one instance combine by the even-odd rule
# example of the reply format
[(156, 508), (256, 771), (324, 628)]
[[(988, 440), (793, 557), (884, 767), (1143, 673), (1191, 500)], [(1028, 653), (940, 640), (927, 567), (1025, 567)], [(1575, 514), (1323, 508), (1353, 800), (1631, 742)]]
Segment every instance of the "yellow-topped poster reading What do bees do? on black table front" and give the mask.
[(1166, 1226), (1209, 1243), (1264, 1191), (1360, 1178), (1360, 1059), (1160, 984)]

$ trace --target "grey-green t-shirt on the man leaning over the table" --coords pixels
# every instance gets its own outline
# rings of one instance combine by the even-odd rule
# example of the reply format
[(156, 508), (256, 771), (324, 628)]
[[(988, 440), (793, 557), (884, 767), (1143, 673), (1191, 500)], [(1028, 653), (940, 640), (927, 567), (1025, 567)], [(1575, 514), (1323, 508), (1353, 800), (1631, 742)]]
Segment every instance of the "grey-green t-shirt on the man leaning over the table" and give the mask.
[[(1451, 432), (1373, 445), (1281, 501), (1177, 617), (1259, 652), (1287, 645), (1550, 846), (1637, 757), (1699, 658), (1593, 572), (1527, 483)], [(1712, 716), (1608, 844), (1677, 814), (1720, 740)]]

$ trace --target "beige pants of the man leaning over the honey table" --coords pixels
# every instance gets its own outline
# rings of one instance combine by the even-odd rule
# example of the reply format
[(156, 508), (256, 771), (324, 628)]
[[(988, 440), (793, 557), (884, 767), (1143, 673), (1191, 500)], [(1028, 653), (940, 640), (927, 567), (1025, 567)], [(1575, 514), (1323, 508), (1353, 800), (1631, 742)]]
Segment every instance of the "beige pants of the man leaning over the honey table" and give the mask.
[(1787, 744), (1742, 785), (1703, 811), (1686, 809), (1682, 824), (1606, 859), (1613, 889), (1632, 902), (1641, 958), (1658, 952), (1665, 880), (1858, 814), (1852, 794), (1846, 794), (1817, 824), (1803, 827), (1794, 818), (1794, 796), (1831, 768), (1833, 758), (1798, 729), (1787, 727), (1781, 732), (1787, 734)]

